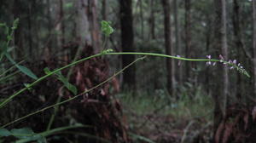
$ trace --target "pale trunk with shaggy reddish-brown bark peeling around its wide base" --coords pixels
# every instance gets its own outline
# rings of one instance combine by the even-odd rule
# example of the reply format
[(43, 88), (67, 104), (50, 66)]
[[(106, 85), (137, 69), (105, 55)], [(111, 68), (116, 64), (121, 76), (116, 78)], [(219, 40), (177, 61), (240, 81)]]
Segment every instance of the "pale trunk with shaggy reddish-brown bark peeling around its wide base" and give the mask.
[[(97, 36), (99, 32), (96, 31), (99, 23), (96, 22), (97, 19), (95, 17), (97, 16), (96, 0), (77, 0), (76, 2), (78, 18), (77, 34), (80, 39), (79, 49), (82, 49), (83, 54), (83, 56), (79, 56), (79, 58), (82, 58), (84, 56), (95, 54), (97, 50), (99, 50), (96, 47), (97, 40), (100, 40)], [(79, 92), (83, 92), (84, 89), (91, 89), (108, 78), (108, 68), (108, 61), (102, 57), (86, 60), (83, 64), (74, 68), (73, 83), (76, 83)], [(110, 85), (106, 83), (85, 97), (89, 100), (98, 100), (99, 102), (106, 104), (84, 104), (77, 100), (73, 103), (73, 107), (75, 107), (76, 110), (73, 117), (79, 121), (79, 123), (89, 123), (95, 127), (94, 129), (84, 129), (84, 132), (87, 134), (96, 135), (97, 137), (101, 137), (102, 139), (109, 140), (113, 143), (129, 142), (129, 138), (126, 135), (126, 129), (119, 118), (120, 114), (113, 105), (117, 101), (111, 100), (111, 96), (108, 93), (109, 86)], [(84, 140), (88, 140), (88, 142), (98, 142), (95, 139), (79, 137), (79, 142), (83, 142)]]

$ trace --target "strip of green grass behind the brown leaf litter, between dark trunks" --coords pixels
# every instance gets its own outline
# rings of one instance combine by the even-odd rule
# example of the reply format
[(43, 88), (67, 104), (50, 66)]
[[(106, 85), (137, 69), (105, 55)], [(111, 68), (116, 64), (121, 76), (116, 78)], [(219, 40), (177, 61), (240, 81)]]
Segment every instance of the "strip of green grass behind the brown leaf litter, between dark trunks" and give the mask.
[(118, 94), (118, 97), (125, 112), (138, 116), (154, 113), (187, 119), (207, 117), (210, 120), (213, 109), (212, 97), (204, 93), (200, 87), (193, 90), (194, 94), (191, 95), (191, 89), (183, 88), (177, 93), (178, 100), (167, 94), (164, 89), (156, 89), (153, 92), (139, 91), (137, 94), (124, 92)]

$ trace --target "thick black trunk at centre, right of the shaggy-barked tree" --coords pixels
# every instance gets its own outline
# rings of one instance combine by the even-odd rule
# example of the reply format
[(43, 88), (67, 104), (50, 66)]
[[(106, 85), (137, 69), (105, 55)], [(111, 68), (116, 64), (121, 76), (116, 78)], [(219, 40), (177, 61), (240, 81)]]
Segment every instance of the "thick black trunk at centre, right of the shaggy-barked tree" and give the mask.
[[(132, 0), (119, 0), (120, 24), (121, 24), (121, 46), (123, 52), (134, 52), (133, 47), (133, 24), (132, 24)], [(125, 67), (135, 60), (135, 55), (122, 55), (122, 66)], [(136, 88), (136, 67), (131, 66), (124, 72), (124, 83), (128, 88)]]

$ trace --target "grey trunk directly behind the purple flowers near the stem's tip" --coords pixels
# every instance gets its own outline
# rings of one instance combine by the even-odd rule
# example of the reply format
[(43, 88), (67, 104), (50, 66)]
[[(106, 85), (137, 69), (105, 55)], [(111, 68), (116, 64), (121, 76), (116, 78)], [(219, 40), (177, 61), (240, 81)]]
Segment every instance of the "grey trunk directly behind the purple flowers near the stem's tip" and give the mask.
[[(225, 0), (214, 0), (215, 4), (215, 48), (217, 54), (222, 54), (224, 59), (228, 59), (228, 46), (226, 37), (226, 6)], [(214, 133), (218, 129), (218, 125), (225, 115), (225, 109), (228, 97), (228, 68), (218, 65), (218, 84), (216, 92), (213, 94), (215, 103), (214, 107)], [(217, 141), (217, 140), (215, 140)]]

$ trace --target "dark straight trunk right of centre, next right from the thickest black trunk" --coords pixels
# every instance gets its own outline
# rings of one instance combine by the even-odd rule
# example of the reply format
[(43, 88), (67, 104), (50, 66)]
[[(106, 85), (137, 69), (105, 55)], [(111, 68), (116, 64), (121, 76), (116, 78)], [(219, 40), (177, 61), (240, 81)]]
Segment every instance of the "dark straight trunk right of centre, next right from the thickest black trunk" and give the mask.
[[(171, 6), (169, 0), (162, 0), (164, 9), (164, 22), (165, 22), (165, 46), (166, 54), (172, 55), (172, 29), (171, 29)], [(174, 64), (173, 60), (166, 59), (166, 69), (167, 69), (167, 89), (169, 94), (174, 94)]]

